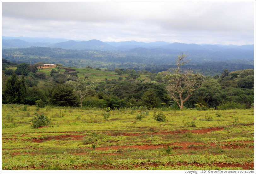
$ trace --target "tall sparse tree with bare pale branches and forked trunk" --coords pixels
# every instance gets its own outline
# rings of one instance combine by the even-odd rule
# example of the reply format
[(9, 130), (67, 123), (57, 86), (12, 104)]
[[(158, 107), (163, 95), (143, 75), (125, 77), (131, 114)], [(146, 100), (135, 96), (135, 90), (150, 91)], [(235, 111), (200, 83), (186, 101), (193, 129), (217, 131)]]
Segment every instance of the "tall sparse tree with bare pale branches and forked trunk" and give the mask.
[(180, 66), (187, 63), (187, 55), (178, 55), (176, 59), (177, 68), (172, 68), (172, 73), (169, 71), (159, 72), (158, 75), (166, 83), (166, 90), (170, 97), (177, 103), (180, 109), (183, 109), (183, 104), (193, 95), (193, 91), (200, 88), (204, 80), (203, 75), (187, 70), (183, 71)]

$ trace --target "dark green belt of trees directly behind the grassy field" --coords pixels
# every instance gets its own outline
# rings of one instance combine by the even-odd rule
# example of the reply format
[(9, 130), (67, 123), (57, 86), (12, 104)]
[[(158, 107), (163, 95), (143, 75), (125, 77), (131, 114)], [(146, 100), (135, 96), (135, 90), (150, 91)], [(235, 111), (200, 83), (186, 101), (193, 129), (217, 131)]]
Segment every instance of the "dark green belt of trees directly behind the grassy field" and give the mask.
[[(61, 64), (57, 64), (57, 67), (46, 74), (37, 68), (40, 65), (42, 62), (33, 65), (17, 64), (2, 59), (3, 103), (37, 107), (52, 105), (111, 109), (122, 107), (179, 109), (177, 102), (167, 91), (167, 84), (160, 78), (161, 73), (115, 68), (116, 75), (124, 73), (129, 75), (120, 76), (118, 80), (96, 80), (86, 76), (79, 77), (79, 70), (69, 71), (67, 68), (63, 70)], [(181, 66), (181, 70), (185, 72), (189, 66), (191, 65)], [(139, 78), (142, 74), (146, 75), (147, 79)], [(253, 69), (236, 71), (224, 69), (219, 75), (201, 77), (203, 80), (200, 86), (191, 93), (184, 103), (184, 108), (206, 110), (254, 106)], [(187, 93), (188, 90), (184, 90), (183, 95)]]

